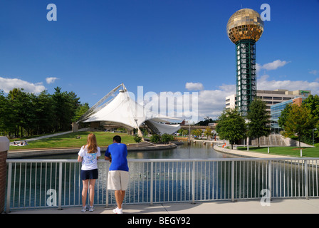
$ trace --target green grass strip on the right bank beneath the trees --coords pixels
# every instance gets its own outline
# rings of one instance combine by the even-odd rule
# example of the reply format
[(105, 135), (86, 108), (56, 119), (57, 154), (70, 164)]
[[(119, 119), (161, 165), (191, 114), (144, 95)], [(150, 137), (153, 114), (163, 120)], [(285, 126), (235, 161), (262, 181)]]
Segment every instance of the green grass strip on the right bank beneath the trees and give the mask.
[[(238, 150), (247, 150), (247, 147), (237, 147)], [(319, 147), (301, 147), (303, 157), (319, 157)], [(249, 151), (267, 153), (267, 147), (249, 147)], [(269, 147), (270, 155), (286, 155), (300, 157), (299, 147)]]

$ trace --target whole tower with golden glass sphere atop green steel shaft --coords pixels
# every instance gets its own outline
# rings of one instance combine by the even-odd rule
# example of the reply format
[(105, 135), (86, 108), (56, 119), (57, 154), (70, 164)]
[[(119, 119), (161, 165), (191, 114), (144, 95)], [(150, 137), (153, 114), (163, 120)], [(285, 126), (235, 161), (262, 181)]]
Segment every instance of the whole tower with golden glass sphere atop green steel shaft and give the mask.
[(227, 23), (227, 35), (236, 44), (236, 108), (246, 116), (256, 96), (256, 41), (263, 33), (263, 20), (253, 9), (241, 9)]

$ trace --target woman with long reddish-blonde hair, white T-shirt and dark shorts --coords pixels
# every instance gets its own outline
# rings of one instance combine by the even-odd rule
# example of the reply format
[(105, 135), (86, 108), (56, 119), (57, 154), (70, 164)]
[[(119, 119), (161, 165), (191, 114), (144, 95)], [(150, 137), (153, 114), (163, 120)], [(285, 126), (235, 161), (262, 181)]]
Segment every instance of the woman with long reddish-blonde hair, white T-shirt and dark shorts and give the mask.
[[(86, 145), (81, 147), (78, 152), (78, 162), (82, 162), (81, 167), (81, 179), (83, 181), (83, 190), (82, 190), (82, 210), (85, 212), (89, 210), (93, 212), (94, 206), (94, 186), (95, 180), (98, 179), (98, 158), (100, 157), (100, 147), (96, 142), (95, 135), (90, 133), (88, 135), (88, 142)], [(90, 207), (85, 205), (86, 196), (88, 194), (88, 187), (90, 185)]]

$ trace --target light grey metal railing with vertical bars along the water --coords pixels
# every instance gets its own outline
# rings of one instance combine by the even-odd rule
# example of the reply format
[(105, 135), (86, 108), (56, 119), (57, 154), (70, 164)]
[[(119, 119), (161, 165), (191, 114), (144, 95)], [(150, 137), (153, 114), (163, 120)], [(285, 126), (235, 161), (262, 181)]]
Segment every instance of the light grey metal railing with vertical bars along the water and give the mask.
[[(319, 158), (216, 158), (129, 160), (125, 204), (319, 197)], [(7, 160), (6, 212), (80, 206), (77, 160)], [(95, 205), (115, 204), (108, 161), (99, 160)]]

